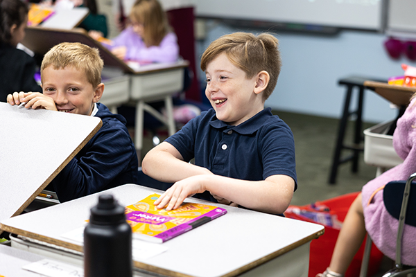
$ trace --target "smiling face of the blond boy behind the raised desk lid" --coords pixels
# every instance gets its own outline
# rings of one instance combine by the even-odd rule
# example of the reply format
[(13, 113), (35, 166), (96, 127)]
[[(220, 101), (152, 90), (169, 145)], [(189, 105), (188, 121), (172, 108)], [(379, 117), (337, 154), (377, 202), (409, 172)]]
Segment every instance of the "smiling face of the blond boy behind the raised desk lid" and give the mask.
[(42, 71), (42, 90), (44, 95), (53, 98), (58, 111), (72, 114), (91, 115), (94, 102), (98, 102), (101, 93), (87, 80), (83, 70), (73, 66), (54, 69), (48, 66)]

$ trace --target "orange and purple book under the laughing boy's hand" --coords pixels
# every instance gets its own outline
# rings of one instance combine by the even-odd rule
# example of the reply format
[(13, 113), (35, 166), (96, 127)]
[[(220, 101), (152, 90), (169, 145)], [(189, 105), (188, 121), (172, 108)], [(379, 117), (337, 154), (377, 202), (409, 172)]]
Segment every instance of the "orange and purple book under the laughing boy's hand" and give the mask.
[(125, 207), (125, 219), (132, 227), (133, 238), (166, 242), (227, 213), (224, 208), (197, 203), (183, 203), (172, 211), (158, 210), (153, 203), (159, 197), (155, 193)]

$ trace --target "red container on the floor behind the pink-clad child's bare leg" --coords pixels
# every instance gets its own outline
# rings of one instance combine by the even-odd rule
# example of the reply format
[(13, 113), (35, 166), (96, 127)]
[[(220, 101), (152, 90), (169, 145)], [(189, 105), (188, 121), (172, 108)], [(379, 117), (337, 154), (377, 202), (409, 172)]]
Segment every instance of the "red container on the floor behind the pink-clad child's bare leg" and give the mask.
[[(330, 210), (329, 213), (335, 213), (338, 217), (338, 220), (340, 220), (340, 222), (343, 222), (345, 220), (345, 216), (347, 215), (349, 206), (351, 206), (352, 202), (354, 202), (354, 199), (356, 199), (357, 195), (358, 193), (348, 193), (346, 195), (340, 195), (338, 197), (333, 197), (331, 199), (316, 202), (315, 204), (317, 206), (327, 206)], [(295, 207), (311, 211), (311, 205)], [(313, 222), (313, 220), (309, 220), (309, 218), (302, 217), (291, 212), (285, 212), (284, 215), (286, 215), (286, 217), (293, 218), (296, 220)], [(324, 227), (325, 233), (321, 235), (320, 238), (318, 238), (317, 240), (312, 240), (311, 242), (309, 256), (309, 277), (315, 277), (316, 274), (324, 272), (325, 269), (329, 267), (336, 239), (338, 238), (338, 234), (340, 233), (340, 230), (334, 229), (331, 226)], [(347, 272), (345, 273), (345, 277), (356, 277), (360, 274), (361, 260), (363, 260), (364, 248), (365, 240), (358, 252), (356, 253), (356, 256), (354, 256), (351, 265), (349, 265)], [(377, 249), (376, 246), (372, 244), (367, 276), (372, 276), (376, 274), (377, 271), (379, 271), (382, 258), (383, 253), (381, 253), (381, 251), (379, 251), (379, 249)]]

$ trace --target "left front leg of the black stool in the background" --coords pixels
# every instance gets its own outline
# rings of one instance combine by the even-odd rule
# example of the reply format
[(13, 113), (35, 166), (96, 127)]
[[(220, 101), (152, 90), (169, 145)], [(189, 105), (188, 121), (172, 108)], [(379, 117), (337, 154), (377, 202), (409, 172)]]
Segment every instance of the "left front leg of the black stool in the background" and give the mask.
[(338, 139), (336, 140), (336, 148), (333, 153), (331, 175), (329, 176), (329, 184), (335, 184), (338, 166), (340, 165), (341, 150), (343, 148), (345, 129), (347, 128), (347, 120), (349, 117), (349, 102), (351, 101), (352, 86), (347, 86), (347, 94), (345, 95), (343, 116), (340, 119), (338, 127)]

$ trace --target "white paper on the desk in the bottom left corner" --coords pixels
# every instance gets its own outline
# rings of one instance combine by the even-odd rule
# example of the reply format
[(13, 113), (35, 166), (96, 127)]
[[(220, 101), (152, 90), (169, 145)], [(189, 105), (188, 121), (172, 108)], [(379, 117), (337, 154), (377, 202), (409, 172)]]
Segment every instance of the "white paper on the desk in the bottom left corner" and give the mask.
[(84, 269), (49, 259), (32, 262), (22, 267), (22, 269), (49, 277), (84, 277)]

